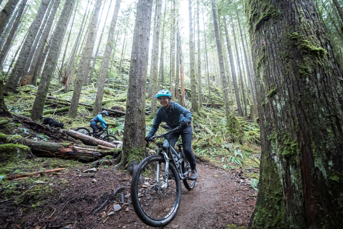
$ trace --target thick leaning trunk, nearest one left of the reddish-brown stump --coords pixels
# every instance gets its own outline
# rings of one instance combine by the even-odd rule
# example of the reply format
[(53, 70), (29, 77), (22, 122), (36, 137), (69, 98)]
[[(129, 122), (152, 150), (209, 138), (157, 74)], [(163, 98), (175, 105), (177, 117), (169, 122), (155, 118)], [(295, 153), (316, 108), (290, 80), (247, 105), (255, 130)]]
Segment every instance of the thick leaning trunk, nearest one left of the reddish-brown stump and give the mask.
[(20, 79), (20, 77), (23, 75), (23, 68), (25, 67), (25, 63), (26, 63), (26, 60), (28, 59), (31, 46), (38, 33), (40, 24), (42, 23), (42, 20), (44, 18), (44, 14), (48, 7), (49, 2), (50, 0), (45, 0), (45, 1), (43, 0), (42, 3), (40, 4), (35, 20), (31, 24), (28, 34), (25, 38), (25, 42), (20, 51), (19, 57), (15, 62), (15, 65), (12, 69), (10, 77), (6, 81), (5, 91), (12, 91), (12, 92), (15, 91), (17, 87), (17, 82)]

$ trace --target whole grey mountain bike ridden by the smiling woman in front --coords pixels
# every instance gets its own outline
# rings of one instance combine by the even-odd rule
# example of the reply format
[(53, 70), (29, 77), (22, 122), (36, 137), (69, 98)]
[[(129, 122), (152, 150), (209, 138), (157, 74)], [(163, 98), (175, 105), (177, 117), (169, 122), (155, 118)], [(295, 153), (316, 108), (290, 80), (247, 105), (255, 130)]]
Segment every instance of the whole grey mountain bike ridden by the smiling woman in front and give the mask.
[(179, 153), (170, 147), (166, 138), (180, 127), (169, 130), (159, 136), (165, 138), (163, 147), (157, 155), (146, 157), (133, 172), (131, 180), (131, 201), (138, 217), (152, 227), (167, 225), (175, 216), (181, 201), (181, 180), (188, 190), (192, 190), (195, 181), (190, 180), (191, 167), (177, 144)]

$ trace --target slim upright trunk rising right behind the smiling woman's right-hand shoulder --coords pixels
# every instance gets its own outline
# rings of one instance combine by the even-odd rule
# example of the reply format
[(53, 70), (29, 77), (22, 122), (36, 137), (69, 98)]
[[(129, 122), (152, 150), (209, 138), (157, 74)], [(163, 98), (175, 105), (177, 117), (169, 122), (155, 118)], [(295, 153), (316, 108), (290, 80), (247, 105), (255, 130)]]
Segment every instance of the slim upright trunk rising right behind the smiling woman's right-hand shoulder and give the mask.
[(193, 24), (192, 24), (192, 0), (188, 0), (188, 27), (189, 27), (189, 75), (191, 81), (191, 103), (192, 112), (199, 111), (198, 93), (195, 78), (195, 54), (193, 41)]

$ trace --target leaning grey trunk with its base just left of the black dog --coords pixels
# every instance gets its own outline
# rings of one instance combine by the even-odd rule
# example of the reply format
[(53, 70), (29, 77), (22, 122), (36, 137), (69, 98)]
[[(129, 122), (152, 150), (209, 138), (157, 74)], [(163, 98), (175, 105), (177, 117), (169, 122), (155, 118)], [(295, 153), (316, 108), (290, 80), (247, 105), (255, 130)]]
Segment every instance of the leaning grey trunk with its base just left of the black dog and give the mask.
[(73, 0), (66, 0), (57, 26), (52, 36), (51, 46), (49, 49), (47, 61), (45, 62), (42, 78), (40, 79), (39, 87), (35, 102), (33, 103), (31, 118), (33, 120), (39, 119), (39, 116), (43, 114), (43, 108), (48, 93), (50, 80), (54, 71), (54, 65), (58, 58), (58, 53), (63, 41), (63, 34), (66, 31), (67, 24), (73, 8)]

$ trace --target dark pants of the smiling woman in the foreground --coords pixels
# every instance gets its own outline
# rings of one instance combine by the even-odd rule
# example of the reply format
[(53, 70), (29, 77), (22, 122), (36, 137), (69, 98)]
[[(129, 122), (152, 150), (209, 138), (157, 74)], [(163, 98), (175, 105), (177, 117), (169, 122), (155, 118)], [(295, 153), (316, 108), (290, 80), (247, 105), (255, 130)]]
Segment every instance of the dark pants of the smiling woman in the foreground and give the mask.
[(187, 126), (185, 129), (183, 129), (180, 132), (173, 133), (173, 134), (168, 134), (168, 141), (170, 148), (174, 148), (175, 143), (177, 142), (177, 139), (179, 139), (181, 135), (182, 139), (182, 148), (184, 148), (184, 153), (189, 161), (191, 168), (195, 169), (197, 162), (194, 157), (194, 153), (192, 151), (192, 137), (193, 137), (193, 130), (191, 125)]

